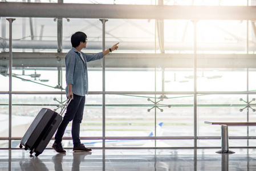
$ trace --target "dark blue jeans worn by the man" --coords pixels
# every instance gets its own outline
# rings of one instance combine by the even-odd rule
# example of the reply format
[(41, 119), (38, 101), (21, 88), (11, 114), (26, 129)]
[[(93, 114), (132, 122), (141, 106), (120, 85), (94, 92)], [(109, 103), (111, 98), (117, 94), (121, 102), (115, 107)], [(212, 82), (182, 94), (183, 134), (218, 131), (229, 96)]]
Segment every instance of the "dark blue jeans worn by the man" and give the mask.
[(84, 112), (84, 104), (86, 103), (85, 96), (78, 96), (74, 94), (74, 99), (71, 100), (70, 104), (67, 107), (67, 112), (63, 117), (63, 121), (60, 124), (56, 135), (55, 135), (55, 143), (62, 143), (62, 137), (67, 128), (68, 123), (72, 121), (72, 139), (73, 145), (79, 146), (81, 144), (80, 141), (80, 124), (83, 120), (83, 112)]

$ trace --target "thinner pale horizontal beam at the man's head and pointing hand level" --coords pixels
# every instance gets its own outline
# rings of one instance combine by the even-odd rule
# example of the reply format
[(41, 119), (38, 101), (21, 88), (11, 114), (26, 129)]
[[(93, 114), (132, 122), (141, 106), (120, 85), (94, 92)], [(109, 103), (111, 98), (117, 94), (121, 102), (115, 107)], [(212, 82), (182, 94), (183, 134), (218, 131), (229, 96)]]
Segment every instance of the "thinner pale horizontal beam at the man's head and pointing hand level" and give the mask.
[[(3, 41), (3, 40), (2, 40)], [(86, 50), (101, 50), (102, 49), (101, 41), (91, 41), (87, 43)], [(116, 42), (105, 42), (106, 47), (112, 47)], [(8, 48), (9, 40), (4, 40), (3, 43), (0, 43), (0, 48)], [(198, 43), (198, 51), (236, 51), (242, 52), (245, 50), (246, 43)], [(71, 42), (63, 41), (63, 49), (70, 50)], [(250, 51), (255, 51), (256, 46), (254, 42), (249, 44)], [(13, 40), (13, 48), (29, 48), (29, 49), (58, 49), (58, 43), (55, 40)], [(181, 43), (181, 42), (165, 42), (166, 51), (193, 51), (193, 43)], [(158, 49), (158, 48), (157, 48)], [(86, 51), (84, 50), (84, 51)], [(155, 50), (155, 42), (120, 42), (120, 47), (118, 50), (131, 50), (131, 51), (143, 51), (143, 50)]]

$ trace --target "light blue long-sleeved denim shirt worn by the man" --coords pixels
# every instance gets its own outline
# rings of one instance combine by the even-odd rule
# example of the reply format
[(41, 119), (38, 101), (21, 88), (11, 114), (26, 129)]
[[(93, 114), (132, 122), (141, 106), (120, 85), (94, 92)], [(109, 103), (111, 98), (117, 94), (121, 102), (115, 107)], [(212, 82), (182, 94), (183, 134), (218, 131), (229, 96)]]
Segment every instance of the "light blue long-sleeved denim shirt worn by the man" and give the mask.
[[(72, 84), (72, 92), (75, 95), (84, 96), (88, 93), (88, 72), (87, 62), (102, 59), (103, 52), (99, 52), (95, 55), (88, 55), (81, 52), (83, 55), (83, 62), (79, 52), (75, 47), (67, 53), (65, 57), (66, 63), (66, 83)], [(68, 95), (68, 86), (66, 87), (66, 95)]]

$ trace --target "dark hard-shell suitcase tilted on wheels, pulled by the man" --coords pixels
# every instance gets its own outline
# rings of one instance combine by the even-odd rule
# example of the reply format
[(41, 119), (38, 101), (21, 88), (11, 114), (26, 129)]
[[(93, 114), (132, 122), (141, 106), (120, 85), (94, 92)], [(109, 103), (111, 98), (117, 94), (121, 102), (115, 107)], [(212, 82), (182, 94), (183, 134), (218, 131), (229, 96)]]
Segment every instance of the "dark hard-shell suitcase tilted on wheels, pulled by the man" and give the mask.
[(29, 149), (30, 154), (35, 152), (36, 157), (41, 154), (50, 142), (52, 136), (54, 136), (56, 130), (59, 128), (59, 125), (62, 123), (62, 115), (66, 111), (70, 101), (71, 99), (66, 101), (60, 114), (51, 109), (42, 108), (29, 129), (27, 129), (19, 148), (25, 146), (25, 150)]

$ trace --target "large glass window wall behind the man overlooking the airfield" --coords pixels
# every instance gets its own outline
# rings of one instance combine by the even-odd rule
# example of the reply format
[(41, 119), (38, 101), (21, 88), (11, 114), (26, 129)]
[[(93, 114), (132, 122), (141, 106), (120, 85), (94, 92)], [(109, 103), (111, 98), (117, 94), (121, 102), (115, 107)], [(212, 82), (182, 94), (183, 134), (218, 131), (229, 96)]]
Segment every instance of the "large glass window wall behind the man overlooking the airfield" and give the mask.
[[(158, 2), (97, 3), (155, 5)], [(203, 2), (164, 3), (201, 5)], [(212, 1), (204, 5), (245, 5), (245, 1)], [(7, 92), (10, 84), (9, 22), (1, 18), (0, 55), (4, 58), (0, 58), (0, 137), (5, 137), (1, 140), (5, 144), (0, 147), (6, 147), (9, 136), (9, 93), (13, 104), (12, 137), (22, 137), (40, 109), (59, 112), (63, 107), (67, 100), (64, 56), (71, 49), (70, 38), (76, 31), (87, 34), (87, 47), (82, 50), (86, 53), (95, 54), (120, 43), (118, 51), (105, 56), (105, 68), (102, 60), (88, 63), (89, 93), (80, 127), (83, 143), (102, 147), (103, 139), (108, 137), (107, 147), (181, 147), (194, 146), (194, 139), (199, 136), (203, 140), (197, 140), (198, 146), (220, 146), (216, 136), (221, 136), (221, 127), (204, 124), (204, 121), (256, 119), (256, 72), (251, 62), (255, 51), (254, 24), (246, 21), (109, 19), (105, 23), (104, 38), (99, 19), (16, 18), (13, 22), (12, 91)], [(58, 25), (63, 26), (63, 46), (59, 53), (58, 35), (61, 32)], [(197, 40), (194, 40), (195, 33)], [(105, 47), (102, 47), (104, 40)], [(198, 57), (195, 68), (194, 56)], [(66, 147), (72, 146), (71, 125), (64, 134), (68, 137), (64, 140)], [(229, 129), (230, 136), (255, 134), (254, 127)], [(141, 137), (155, 136), (161, 138), (141, 140)], [(214, 140), (204, 139), (208, 136), (214, 136)], [(138, 139), (130, 141), (133, 137)], [(17, 142), (12, 140), (11, 146), (17, 147)], [(255, 140), (234, 142), (231, 140), (230, 146), (246, 146), (248, 142), (255, 145)]]

